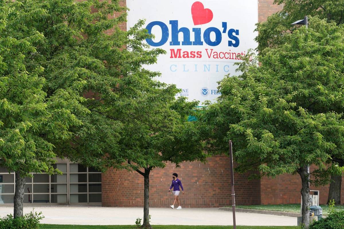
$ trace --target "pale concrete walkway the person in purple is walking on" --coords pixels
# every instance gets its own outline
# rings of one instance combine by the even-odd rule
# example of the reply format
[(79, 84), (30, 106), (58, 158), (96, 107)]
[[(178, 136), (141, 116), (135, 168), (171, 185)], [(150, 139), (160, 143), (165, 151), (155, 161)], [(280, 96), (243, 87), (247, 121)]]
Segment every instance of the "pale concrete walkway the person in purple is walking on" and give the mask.
[[(24, 207), (24, 214), (33, 207)], [(98, 206), (43, 206), (44, 224), (73, 225), (134, 225), (143, 217), (143, 208), (115, 208)], [(0, 216), (13, 214), (13, 207), (0, 207)], [(233, 225), (232, 212), (218, 208), (150, 208), (152, 225)], [(297, 226), (295, 217), (256, 213), (236, 213), (237, 225), (247, 226)]]

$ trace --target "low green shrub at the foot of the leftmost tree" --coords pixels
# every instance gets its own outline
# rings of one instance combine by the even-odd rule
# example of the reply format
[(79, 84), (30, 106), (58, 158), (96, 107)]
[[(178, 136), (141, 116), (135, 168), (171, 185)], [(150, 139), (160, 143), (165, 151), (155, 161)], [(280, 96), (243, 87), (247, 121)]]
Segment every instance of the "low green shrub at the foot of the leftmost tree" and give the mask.
[(0, 218), (0, 229), (39, 229), (39, 221), (43, 218), (42, 212), (36, 213), (33, 210), (15, 219), (10, 214)]

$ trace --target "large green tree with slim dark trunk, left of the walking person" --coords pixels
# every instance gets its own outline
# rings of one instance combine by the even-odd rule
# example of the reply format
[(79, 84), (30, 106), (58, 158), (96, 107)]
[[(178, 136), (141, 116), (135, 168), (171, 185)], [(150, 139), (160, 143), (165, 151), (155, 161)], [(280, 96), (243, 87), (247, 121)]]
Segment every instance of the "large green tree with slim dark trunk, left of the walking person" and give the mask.
[[(25, 58), (27, 68), (42, 66), (47, 97), (61, 91), (77, 101), (73, 108), (80, 111), (73, 114), (82, 126), (68, 126), (72, 139), (51, 138), (54, 152), (101, 170), (115, 167), (143, 175), (143, 227), (150, 228), (150, 171), (167, 161), (178, 166), (206, 159), (200, 130), (187, 122), (198, 102), (176, 100), (175, 85), (159, 82), (159, 72), (144, 69), (165, 51), (144, 43), (153, 37), (142, 28), (144, 21), (120, 30), (127, 9), (117, 0), (23, 0), (17, 10), (14, 31), (23, 37), (31, 31), (44, 36), (33, 43), (36, 53)], [(43, 13), (18, 20), (35, 11)], [(119, 16), (109, 17), (115, 14)], [(54, 105), (67, 106), (69, 100)]]

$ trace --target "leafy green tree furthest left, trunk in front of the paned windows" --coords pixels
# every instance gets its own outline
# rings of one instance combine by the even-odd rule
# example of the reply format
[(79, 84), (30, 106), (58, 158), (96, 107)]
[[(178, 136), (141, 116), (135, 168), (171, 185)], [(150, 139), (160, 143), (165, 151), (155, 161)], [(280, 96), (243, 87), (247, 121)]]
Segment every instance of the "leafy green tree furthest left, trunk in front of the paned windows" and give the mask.
[[(77, 140), (83, 137), (83, 134), (92, 136), (94, 129), (105, 132), (105, 129), (102, 130), (102, 126), (98, 125), (101, 123), (99, 116), (91, 114), (87, 108), (92, 105), (92, 98), (87, 99), (84, 95), (92, 94), (90, 91), (93, 91), (93, 94), (107, 93), (109, 88), (106, 88), (107, 85), (103, 79), (107, 78), (111, 80), (111, 83), (116, 80), (111, 75), (105, 75), (108, 74), (105, 71), (106, 63), (103, 62), (106, 60), (100, 57), (114, 55), (110, 58), (123, 58), (121, 49), (126, 33), (119, 32), (118, 28), (111, 36), (104, 32), (124, 22), (126, 14), (108, 19), (109, 14), (114, 15), (125, 10), (119, 6), (118, 1), (1, 1), (1, 7), (4, 9), (1, 37), (13, 38), (3, 39), (5, 51), (1, 53), (1, 56), (8, 66), (5, 64), (2, 66), (6, 71), (15, 72), (15, 69), (9, 66), (16, 63), (15, 58), (18, 58), (20, 73), (31, 77), (25, 79), (17, 76), (19, 74), (15, 75), (17, 78), (11, 81), (15, 87), (4, 85), (2, 94), (12, 96), (8, 92), (13, 91), (15, 96), (22, 96), (19, 97), (21, 100), (16, 101), (18, 105), (23, 106), (22, 104), (29, 101), (41, 107), (39, 111), (35, 107), (29, 109), (20, 106), (27, 114), (18, 111), (21, 116), (15, 120), (12, 113), (7, 112), (7, 116), (5, 113), (3, 116), (5, 120), (13, 119), (11, 124), (17, 127), (16, 125), (26, 121), (24, 118), (28, 119), (32, 115), (28, 122), (30, 121), (29, 124), (33, 127), (27, 128), (26, 132), (33, 132), (32, 135), (37, 136), (35, 140), (41, 141), (39, 144), (30, 139), (21, 141), (21, 144), (28, 142), (26, 148), (31, 147), (20, 151), (22, 159), (14, 157), (15, 155), (11, 152), (7, 154), (12, 158), (2, 157), (7, 164), (1, 165), (16, 172), (14, 217), (17, 217), (22, 216), (25, 176), (29, 175), (29, 172), (50, 174), (58, 172), (52, 167), (54, 162), (52, 159), (56, 156), (68, 157), (86, 165), (104, 168), (101, 166), (104, 163), (97, 158), (103, 155), (102, 150), (105, 150), (104, 147), (108, 145), (100, 141), (90, 142), (89, 146), (93, 148), (72, 155), (75, 150), (71, 150), (71, 147), (74, 147), (71, 142), (77, 144)], [(94, 10), (96, 10), (95, 13), (93, 13)], [(11, 45), (9, 41), (14, 45)], [(4, 56), (5, 54), (8, 56)], [(115, 66), (111, 70), (116, 71)], [(29, 72), (32, 73), (29, 74)], [(6, 72), (6, 74), (9, 73)], [(31, 91), (26, 89), (30, 86), (37, 89), (30, 89)], [(24, 89), (28, 91), (27, 94)], [(39, 94), (35, 95), (33, 92)], [(29, 100), (30, 96), (34, 99)], [(29, 126), (29, 124), (24, 124), (25, 128)], [(113, 147), (116, 147), (120, 124), (120, 122), (112, 122), (109, 124), (112, 128), (106, 129), (108, 131), (106, 134), (114, 136), (106, 139), (106, 143), (114, 144)], [(106, 134), (98, 137), (104, 137)], [(10, 140), (13, 140), (13, 137)], [(9, 148), (9, 146), (6, 147)], [(115, 164), (115, 160), (108, 162)], [(116, 162), (119, 164), (118, 167), (121, 167), (122, 161)]]

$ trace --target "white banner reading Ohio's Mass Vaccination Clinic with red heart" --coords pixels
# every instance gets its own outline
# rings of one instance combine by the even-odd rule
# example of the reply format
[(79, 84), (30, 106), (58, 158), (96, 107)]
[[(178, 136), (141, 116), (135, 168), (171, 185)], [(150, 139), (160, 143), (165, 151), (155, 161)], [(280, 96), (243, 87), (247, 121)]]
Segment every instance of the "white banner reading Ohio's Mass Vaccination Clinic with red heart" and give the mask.
[(257, 0), (127, 0), (127, 27), (146, 19), (155, 35), (146, 42), (166, 50), (148, 69), (160, 71), (160, 81), (174, 83), (189, 101), (214, 101), (217, 82), (235, 73), (238, 55), (257, 47)]

